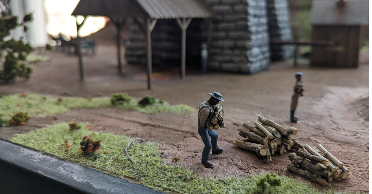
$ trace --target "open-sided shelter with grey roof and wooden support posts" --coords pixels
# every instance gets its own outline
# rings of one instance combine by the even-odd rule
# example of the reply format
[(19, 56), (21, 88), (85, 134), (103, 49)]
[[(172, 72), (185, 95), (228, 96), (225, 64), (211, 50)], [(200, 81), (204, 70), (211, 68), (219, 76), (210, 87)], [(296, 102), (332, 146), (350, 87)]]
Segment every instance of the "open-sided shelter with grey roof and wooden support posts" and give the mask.
[[(121, 41), (119, 32), (126, 20), (133, 19), (146, 36), (147, 44), (147, 86), (151, 89), (152, 54), (151, 32), (158, 19), (176, 19), (182, 30), (182, 64), (181, 78), (185, 79), (186, 72), (186, 30), (194, 18), (208, 20), (208, 47), (211, 45), (212, 20), (214, 13), (204, 0), (80, 0), (76, 5), (73, 16), (107, 16), (117, 27), (118, 69), (121, 73)], [(138, 19), (143, 19), (140, 22)], [(85, 21), (85, 19), (84, 19)], [(83, 21), (83, 23), (84, 23)], [(77, 21), (76, 21), (77, 22)], [(83, 24), (77, 24), (77, 30)], [(79, 39), (79, 34), (77, 34)], [(80, 43), (77, 41), (78, 44)], [(80, 47), (80, 46), (78, 46)], [(81, 52), (78, 50), (80, 79), (84, 80), (84, 68)]]

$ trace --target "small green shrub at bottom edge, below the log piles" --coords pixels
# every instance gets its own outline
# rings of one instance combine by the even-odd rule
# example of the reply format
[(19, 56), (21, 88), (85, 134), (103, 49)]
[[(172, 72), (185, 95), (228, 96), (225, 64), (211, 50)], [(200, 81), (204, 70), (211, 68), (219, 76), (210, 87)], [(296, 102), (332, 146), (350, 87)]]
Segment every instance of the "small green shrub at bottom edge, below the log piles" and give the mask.
[(254, 190), (256, 194), (270, 194), (273, 192), (273, 188), (280, 186), (282, 181), (277, 174), (266, 174), (263, 177), (260, 177), (256, 181), (256, 189)]

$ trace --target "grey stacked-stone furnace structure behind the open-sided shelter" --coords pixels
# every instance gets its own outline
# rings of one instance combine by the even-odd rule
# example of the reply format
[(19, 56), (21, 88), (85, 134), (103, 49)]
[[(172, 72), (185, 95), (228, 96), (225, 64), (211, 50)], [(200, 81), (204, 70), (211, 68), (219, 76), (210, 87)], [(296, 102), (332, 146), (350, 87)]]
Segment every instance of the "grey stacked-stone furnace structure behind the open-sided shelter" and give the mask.
[[(271, 1), (274, 2), (274, 11), (271, 11), (271, 4), (267, 4)], [(271, 34), (279, 34), (279, 38), (292, 36), (288, 8), (286, 3), (281, 3), (283, 1), (286, 0), (206, 0), (216, 16), (209, 51), (211, 69), (240, 73), (256, 73), (266, 69), (270, 62)], [(280, 5), (282, 7), (278, 9)], [(267, 11), (269, 8), (270, 14)], [(186, 67), (195, 64), (201, 66), (200, 45), (207, 41), (206, 24), (202, 19), (193, 19), (186, 34)], [(129, 27), (129, 40), (126, 60), (132, 64), (145, 64), (146, 39), (134, 22)], [(154, 66), (180, 66), (181, 30), (175, 20), (158, 20), (152, 33), (152, 41)], [(283, 48), (273, 50), (273, 53), (286, 59), (288, 49)]]

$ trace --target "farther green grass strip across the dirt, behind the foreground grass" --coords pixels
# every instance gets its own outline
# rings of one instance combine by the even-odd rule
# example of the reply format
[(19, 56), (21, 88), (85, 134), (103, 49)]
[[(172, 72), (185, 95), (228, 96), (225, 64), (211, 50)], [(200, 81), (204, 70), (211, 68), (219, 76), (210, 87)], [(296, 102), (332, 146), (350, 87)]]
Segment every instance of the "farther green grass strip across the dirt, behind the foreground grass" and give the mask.
[[(121, 106), (116, 106), (122, 109), (129, 109), (143, 113), (158, 113), (167, 112), (172, 114), (191, 114), (195, 110), (187, 105), (169, 105), (167, 102), (163, 104), (155, 103), (150, 106), (139, 106), (140, 99), (132, 99), (130, 103), (125, 103)], [(57, 98), (42, 96), (38, 94), (29, 94), (26, 97), (20, 95), (9, 95), (0, 98), (0, 116), (4, 120), (9, 120), (18, 112), (27, 112), (31, 117), (44, 117), (66, 112), (71, 108), (97, 108), (110, 107), (109, 97), (98, 98), (81, 98), (81, 97), (65, 97), (61, 102)]]

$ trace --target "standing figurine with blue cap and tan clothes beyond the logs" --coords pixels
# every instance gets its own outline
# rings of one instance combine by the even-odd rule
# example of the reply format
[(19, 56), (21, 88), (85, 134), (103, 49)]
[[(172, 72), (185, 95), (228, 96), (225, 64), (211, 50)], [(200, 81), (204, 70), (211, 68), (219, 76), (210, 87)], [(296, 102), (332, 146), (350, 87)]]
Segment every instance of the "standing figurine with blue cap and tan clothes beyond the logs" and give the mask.
[(299, 96), (302, 96), (302, 92), (304, 91), (304, 89), (302, 89), (303, 87), (302, 75), (303, 75), (302, 72), (295, 73), (296, 82), (295, 82), (295, 86), (293, 86), (293, 94), (291, 97), (291, 113), (289, 116), (289, 121), (294, 122), (294, 123), (296, 123), (298, 119), (294, 116), (295, 110), (297, 108), (298, 98)]

